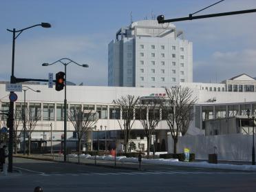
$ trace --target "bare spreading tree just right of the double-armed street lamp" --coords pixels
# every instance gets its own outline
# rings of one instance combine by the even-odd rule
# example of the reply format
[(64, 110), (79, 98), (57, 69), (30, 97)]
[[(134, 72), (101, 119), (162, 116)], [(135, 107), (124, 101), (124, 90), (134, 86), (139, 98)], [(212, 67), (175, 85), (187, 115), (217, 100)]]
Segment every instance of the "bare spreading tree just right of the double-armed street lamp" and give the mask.
[(86, 137), (89, 131), (94, 129), (94, 125), (98, 121), (96, 111), (89, 109), (81, 109), (81, 107), (72, 107), (68, 114), (70, 122), (74, 126), (74, 129), (78, 138), (78, 154), (81, 152), (81, 140)]

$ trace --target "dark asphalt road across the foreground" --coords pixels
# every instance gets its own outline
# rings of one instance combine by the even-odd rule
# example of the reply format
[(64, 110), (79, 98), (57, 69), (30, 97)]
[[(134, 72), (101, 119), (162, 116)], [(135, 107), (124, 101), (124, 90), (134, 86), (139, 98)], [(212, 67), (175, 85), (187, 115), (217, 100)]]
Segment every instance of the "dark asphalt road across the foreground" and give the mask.
[(143, 165), (114, 169), (14, 158), (20, 173), (0, 176), (1, 192), (33, 191), (255, 191), (256, 173), (189, 167)]

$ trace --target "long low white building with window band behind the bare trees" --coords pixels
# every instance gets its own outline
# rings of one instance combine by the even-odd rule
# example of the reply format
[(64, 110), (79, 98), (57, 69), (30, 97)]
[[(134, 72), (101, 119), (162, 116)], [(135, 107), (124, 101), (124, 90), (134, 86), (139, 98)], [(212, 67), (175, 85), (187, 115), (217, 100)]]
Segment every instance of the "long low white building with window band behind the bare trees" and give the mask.
[[(232, 83), (231, 83), (232, 82)], [(204, 120), (213, 118), (223, 118), (231, 116), (246, 116), (246, 109), (250, 109), (251, 114), (256, 114), (256, 81), (254, 78), (242, 74), (223, 83), (180, 83), (182, 87), (190, 87), (193, 90), (193, 96), (198, 98), (194, 107), (195, 118), (191, 122), (188, 135), (204, 134)], [(233, 89), (228, 89), (232, 85)], [(243, 89), (239, 89), (242, 85)], [(63, 100), (64, 91), (56, 92), (47, 85), (29, 85), (32, 89), (40, 90), (41, 93), (26, 92), (26, 107), (34, 110), (34, 113), (41, 113), (41, 119), (37, 122), (36, 128), (32, 134), (32, 140), (39, 140), (50, 145), (50, 140), (58, 147), (63, 134)], [(230, 86), (229, 86), (230, 87)], [(234, 88), (238, 87), (238, 89)], [(250, 88), (248, 88), (250, 87)], [(94, 86), (67, 86), (67, 104), (71, 107), (81, 106), (82, 109), (93, 109), (98, 113), (99, 120), (96, 123), (94, 131), (94, 144), (97, 142), (97, 133), (99, 134), (100, 144), (105, 149), (104, 144), (107, 140), (107, 147), (110, 149), (116, 140), (122, 138), (122, 130), (117, 118), (121, 121), (122, 114), (114, 104), (113, 100), (126, 96), (152, 96), (164, 94), (164, 88), (151, 87), (94, 87)], [(8, 110), (9, 92), (6, 92), (6, 85), (0, 84), (0, 105), (1, 110)], [(14, 103), (14, 110), (22, 110), (24, 102), (23, 92), (17, 92), (18, 100)], [(115, 111), (115, 113), (114, 113)], [(134, 114), (134, 126), (131, 132), (131, 139), (145, 144), (145, 134), (140, 120), (136, 120)], [(6, 120), (1, 117), (1, 127), (4, 127)], [(52, 137), (51, 126), (52, 125)], [(100, 129), (102, 125), (102, 129)], [(22, 123), (19, 130), (23, 129)], [(99, 131), (97, 131), (99, 130)], [(166, 150), (167, 132), (169, 127), (162, 120), (156, 128), (156, 146), (158, 150)], [(67, 121), (67, 145), (76, 141), (73, 136), (74, 127), (70, 121)], [(22, 140), (22, 134), (21, 134)], [(138, 139), (140, 138), (140, 139)], [(73, 142), (72, 142), (73, 141)], [(137, 146), (137, 149), (142, 145)], [(36, 146), (34, 146), (36, 148)], [(147, 146), (144, 145), (144, 149)]]

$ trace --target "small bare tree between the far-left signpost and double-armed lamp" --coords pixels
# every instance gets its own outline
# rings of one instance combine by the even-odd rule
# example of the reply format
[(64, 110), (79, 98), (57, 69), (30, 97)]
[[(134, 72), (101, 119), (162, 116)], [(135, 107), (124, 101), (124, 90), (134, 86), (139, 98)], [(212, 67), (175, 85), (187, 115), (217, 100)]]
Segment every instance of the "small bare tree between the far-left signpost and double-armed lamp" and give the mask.
[(31, 152), (31, 136), (36, 127), (36, 123), (41, 120), (41, 108), (37, 110), (36, 108), (30, 107), (28, 109), (28, 126), (26, 127), (27, 134), (28, 134), (28, 155)]

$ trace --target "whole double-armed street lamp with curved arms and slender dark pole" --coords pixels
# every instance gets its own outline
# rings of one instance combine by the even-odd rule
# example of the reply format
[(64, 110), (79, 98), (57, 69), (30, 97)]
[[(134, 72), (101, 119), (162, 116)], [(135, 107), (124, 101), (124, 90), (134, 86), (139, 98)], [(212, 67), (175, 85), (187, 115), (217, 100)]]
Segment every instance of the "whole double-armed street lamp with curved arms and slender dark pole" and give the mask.
[(54, 63), (43, 63), (42, 66), (54, 65), (55, 63), (61, 63), (65, 66), (65, 98), (64, 98), (64, 161), (67, 161), (67, 65), (70, 63), (74, 63), (81, 67), (89, 67), (87, 64), (78, 64), (72, 61), (70, 58), (61, 58)]

